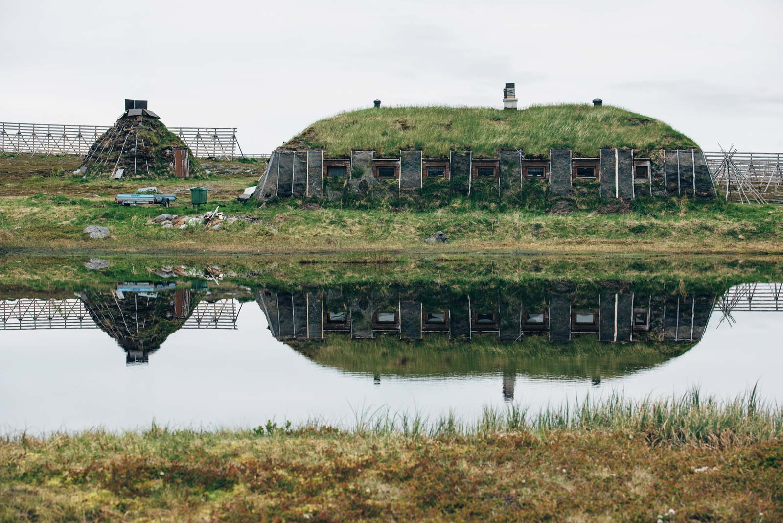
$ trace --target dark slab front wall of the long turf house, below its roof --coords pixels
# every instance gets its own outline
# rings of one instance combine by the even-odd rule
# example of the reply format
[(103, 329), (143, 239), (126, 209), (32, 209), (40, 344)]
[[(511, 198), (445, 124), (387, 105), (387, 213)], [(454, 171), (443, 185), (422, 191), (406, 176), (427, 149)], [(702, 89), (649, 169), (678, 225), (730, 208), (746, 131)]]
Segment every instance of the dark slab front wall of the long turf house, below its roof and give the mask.
[[(498, 159), (474, 159), (470, 151), (449, 153), (449, 176), (442, 179), (424, 177), (420, 150), (402, 150), (399, 158), (399, 179), (377, 179), (373, 175), (373, 151), (352, 151), (346, 159), (348, 175), (345, 178), (327, 177), (323, 150), (275, 151), (254, 192), (255, 200), (270, 197), (314, 197), (330, 200), (349, 200), (355, 197), (399, 200), (397, 205), (415, 203), (420, 195), (428, 200), (444, 200), (452, 195), (470, 195), (474, 200), (525, 206), (529, 203), (532, 182), (540, 181), (552, 197), (573, 197), (572, 151), (550, 150), (549, 180), (525, 180), (522, 176), (524, 155), (518, 150), (501, 150)], [(393, 159), (396, 162), (396, 159)], [(428, 159), (427, 161), (431, 161)], [(377, 162), (377, 161), (376, 161)], [(496, 165), (496, 178), (474, 176), (479, 162)], [(634, 180), (634, 153), (628, 149), (600, 151), (597, 181), (579, 179), (577, 196), (596, 191), (602, 198), (630, 200), (647, 197), (703, 197), (716, 196), (702, 151), (664, 150), (650, 159), (648, 179)], [(593, 187), (595, 186), (595, 187)], [(537, 189), (539, 192), (542, 189)], [(637, 194), (637, 192), (639, 194)], [(543, 193), (542, 193), (543, 194)]]

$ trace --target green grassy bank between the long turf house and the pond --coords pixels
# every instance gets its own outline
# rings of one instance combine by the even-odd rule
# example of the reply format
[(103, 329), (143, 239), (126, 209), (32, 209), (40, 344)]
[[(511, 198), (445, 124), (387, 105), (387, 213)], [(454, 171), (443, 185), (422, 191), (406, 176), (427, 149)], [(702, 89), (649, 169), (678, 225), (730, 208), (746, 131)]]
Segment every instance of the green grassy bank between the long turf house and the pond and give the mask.
[[(239, 189), (239, 188), (237, 188)], [(227, 196), (227, 195), (226, 195)], [(111, 197), (113, 198), (113, 197)], [(254, 222), (223, 225), (221, 231), (162, 229), (145, 225), (161, 207), (122, 207), (110, 197), (66, 197), (39, 193), (0, 199), (0, 244), (58, 251), (124, 252), (315, 252), (315, 251), (603, 251), (603, 252), (780, 252), (783, 208), (721, 201), (635, 203), (636, 211), (601, 215), (575, 211), (496, 212), (470, 202), (412, 212), (388, 209), (305, 208), (287, 201), (266, 207), (211, 200), (194, 210), (179, 204), (168, 212), (193, 215), (220, 206), (228, 215)], [(89, 240), (86, 225), (105, 225), (112, 236)], [(449, 244), (427, 245), (437, 230)]]

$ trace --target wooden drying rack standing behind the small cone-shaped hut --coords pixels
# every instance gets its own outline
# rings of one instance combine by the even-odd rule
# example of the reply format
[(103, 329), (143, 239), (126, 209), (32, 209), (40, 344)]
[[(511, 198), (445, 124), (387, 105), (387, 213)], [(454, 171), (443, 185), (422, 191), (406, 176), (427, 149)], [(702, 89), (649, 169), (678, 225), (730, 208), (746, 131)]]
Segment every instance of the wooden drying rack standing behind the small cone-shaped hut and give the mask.
[[(21, 124), (0, 122), (0, 152), (15, 154), (88, 153), (92, 144), (109, 130), (107, 125)], [(199, 158), (244, 157), (236, 127), (170, 127)], [(254, 154), (263, 158), (269, 155)]]

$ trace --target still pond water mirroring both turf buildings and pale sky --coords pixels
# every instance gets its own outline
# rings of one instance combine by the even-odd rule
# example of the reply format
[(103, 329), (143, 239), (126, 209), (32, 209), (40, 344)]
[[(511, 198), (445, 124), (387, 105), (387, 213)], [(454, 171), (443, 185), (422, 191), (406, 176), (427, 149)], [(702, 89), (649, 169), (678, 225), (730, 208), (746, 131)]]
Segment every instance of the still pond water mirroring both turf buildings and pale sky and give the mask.
[(698, 386), (783, 400), (783, 284), (455, 290), (117, 282), (0, 292), (0, 431), (464, 420)]

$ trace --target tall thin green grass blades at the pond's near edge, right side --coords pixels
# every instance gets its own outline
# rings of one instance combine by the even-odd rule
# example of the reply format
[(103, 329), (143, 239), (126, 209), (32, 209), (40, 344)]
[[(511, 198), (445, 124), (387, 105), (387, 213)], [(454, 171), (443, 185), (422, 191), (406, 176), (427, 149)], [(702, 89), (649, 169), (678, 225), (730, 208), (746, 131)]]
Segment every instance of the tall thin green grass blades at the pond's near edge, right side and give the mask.
[[(291, 434), (322, 426), (311, 420)], [(581, 402), (547, 406), (535, 413), (520, 405), (485, 407), (476, 420), (460, 419), (453, 411), (429, 418), (389, 409), (361, 409), (355, 411), (355, 424), (344, 430), (426, 438), (486, 437), (520, 431), (547, 437), (554, 432), (603, 431), (622, 433), (631, 439), (641, 437), (651, 445), (727, 447), (783, 437), (783, 409), (762, 401), (755, 387), (728, 401), (704, 397), (693, 388), (664, 399), (648, 396), (633, 400), (618, 393), (606, 399), (588, 396)]]

